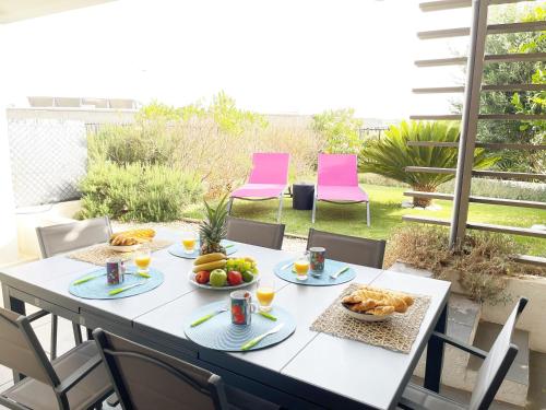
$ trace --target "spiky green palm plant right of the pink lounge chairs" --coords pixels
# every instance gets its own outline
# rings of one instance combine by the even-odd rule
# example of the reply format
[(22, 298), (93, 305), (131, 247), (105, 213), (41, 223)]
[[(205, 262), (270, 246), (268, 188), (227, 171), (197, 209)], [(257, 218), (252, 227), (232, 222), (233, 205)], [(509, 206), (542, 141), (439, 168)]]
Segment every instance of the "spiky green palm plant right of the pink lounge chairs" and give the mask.
[[(440, 184), (454, 178), (454, 174), (413, 173), (406, 166), (438, 168), (456, 167), (458, 150), (447, 147), (415, 147), (408, 141), (458, 142), (459, 124), (448, 121), (402, 121), (391, 126), (380, 140), (368, 141), (359, 155), (360, 172), (379, 174), (408, 184), (413, 190), (434, 192)], [(498, 157), (487, 155), (483, 149), (474, 152), (474, 167), (487, 168)], [(415, 207), (428, 207), (431, 200), (414, 197)]]

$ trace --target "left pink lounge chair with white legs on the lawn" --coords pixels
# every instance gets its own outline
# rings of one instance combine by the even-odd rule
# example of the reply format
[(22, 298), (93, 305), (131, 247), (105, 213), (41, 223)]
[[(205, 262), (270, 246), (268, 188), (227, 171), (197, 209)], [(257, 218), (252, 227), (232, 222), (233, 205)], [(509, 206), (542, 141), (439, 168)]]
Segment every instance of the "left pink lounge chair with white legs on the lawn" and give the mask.
[(283, 211), (283, 194), (288, 184), (289, 154), (254, 153), (252, 155), (252, 171), (248, 183), (232, 192), (228, 212), (235, 198), (247, 201), (263, 201), (278, 199), (277, 222), (281, 222)]

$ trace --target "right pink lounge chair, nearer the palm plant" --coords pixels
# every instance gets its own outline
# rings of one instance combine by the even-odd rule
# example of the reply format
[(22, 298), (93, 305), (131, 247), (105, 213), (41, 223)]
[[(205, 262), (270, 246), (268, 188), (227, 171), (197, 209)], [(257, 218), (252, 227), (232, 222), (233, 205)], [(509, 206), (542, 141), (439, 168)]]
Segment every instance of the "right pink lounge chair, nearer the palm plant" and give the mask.
[(370, 225), (368, 194), (358, 186), (356, 155), (319, 154), (318, 181), (312, 204), (312, 223), (317, 214), (317, 202), (359, 203), (366, 202), (366, 222)]

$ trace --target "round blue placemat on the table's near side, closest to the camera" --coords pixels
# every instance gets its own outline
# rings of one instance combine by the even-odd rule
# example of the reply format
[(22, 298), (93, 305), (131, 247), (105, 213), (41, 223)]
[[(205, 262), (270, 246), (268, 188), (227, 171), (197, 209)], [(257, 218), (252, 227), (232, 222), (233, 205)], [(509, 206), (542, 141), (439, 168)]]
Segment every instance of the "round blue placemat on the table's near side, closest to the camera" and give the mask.
[(223, 350), (227, 352), (240, 352), (242, 344), (260, 335), (263, 335), (268, 330), (273, 329), (280, 324), (284, 324), (281, 330), (274, 335), (268, 336), (260, 343), (248, 351), (277, 344), (287, 339), (294, 330), (296, 330), (296, 320), (294, 316), (277, 306), (273, 306), (270, 312), (271, 315), (274, 315), (277, 318), (275, 321), (253, 313), (252, 323), (249, 326), (233, 325), (232, 314), (229, 312), (223, 312), (201, 325), (190, 327), (190, 324), (194, 320), (217, 309), (227, 307), (228, 303), (229, 301), (227, 300), (223, 302), (215, 302), (192, 312), (183, 327), (186, 336), (197, 344), (209, 349)]

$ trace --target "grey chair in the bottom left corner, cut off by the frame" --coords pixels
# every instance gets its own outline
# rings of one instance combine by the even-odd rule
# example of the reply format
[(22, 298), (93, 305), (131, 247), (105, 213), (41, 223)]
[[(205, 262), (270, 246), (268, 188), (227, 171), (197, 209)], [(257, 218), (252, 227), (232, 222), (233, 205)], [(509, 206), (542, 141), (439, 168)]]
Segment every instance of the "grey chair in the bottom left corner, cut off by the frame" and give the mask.
[(96, 344), (83, 342), (49, 362), (29, 317), (0, 307), (0, 364), (27, 377), (0, 393), (15, 410), (100, 408), (112, 391)]

